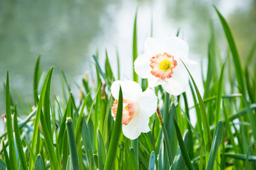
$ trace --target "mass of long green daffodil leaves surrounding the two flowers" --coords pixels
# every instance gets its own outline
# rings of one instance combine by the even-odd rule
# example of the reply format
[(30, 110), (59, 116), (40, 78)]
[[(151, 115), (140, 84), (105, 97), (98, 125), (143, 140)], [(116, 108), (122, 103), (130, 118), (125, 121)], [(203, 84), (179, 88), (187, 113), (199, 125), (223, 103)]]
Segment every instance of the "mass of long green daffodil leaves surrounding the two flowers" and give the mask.
[[(99, 65), (98, 56), (93, 56), (95, 78), (84, 77), (78, 98), (64, 73), (62, 98), (51, 97), (53, 68), (45, 76), (38, 57), (33, 81), (35, 103), (34, 107), (29, 105), (29, 111), (19, 111), (13, 102), (16, 99), (10, 93), (7, 72), (6, 132), (0, 136), (0, 169), (256, 169), (256, 74), (248, 70), (256, 45), (252, 45), (243, 66), (230, 28), (216, 12), (227, 37), (228, 52), (220, 56), (212, 28), (207, 75), (202, 76), (204, 94), (200, 94), (189, 70), (193, 107), (188, 106), (189, 92), (173, 97), (157, 87), (163, 120), (154, 114), (149, 123), (151, 131), (133, 141), (122, 134), (121, 88), (116, 120), (111, 116), (114, 99), (110, 86), (116, 77), (107, 52), (105, 69)], [(137, 12), (133, 61), (137, 58), (136, 18)], [(134, 81), (146, 89), (147, 80), (138, 79), (133, 68), (132, 72)], [(20, 112), (26, 118), (21, 119)], [(195, 126), (190, 121), (193, 113)]]

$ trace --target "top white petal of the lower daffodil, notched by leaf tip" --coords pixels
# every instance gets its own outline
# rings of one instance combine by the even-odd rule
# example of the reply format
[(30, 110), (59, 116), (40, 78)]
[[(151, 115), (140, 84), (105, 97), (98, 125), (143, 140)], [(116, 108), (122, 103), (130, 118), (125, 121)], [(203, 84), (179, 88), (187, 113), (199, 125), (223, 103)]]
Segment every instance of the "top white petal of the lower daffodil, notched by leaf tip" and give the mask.
[(142, 92), (140, 85), (134, 81), (115, 81), (111, 86), (111, 93), (115, 99), (118, 99), (119, 88), (122, 88), (123, 98), (134, 100)]

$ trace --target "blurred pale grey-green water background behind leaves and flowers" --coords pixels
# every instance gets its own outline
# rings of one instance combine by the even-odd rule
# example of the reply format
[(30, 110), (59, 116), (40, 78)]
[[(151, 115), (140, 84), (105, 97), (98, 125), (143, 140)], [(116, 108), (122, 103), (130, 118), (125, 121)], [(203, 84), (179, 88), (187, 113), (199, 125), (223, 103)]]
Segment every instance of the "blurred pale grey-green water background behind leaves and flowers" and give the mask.
[[(0, 0), (0, 114), (5, 112), (3, 83), (7, 69), (11, 91), (16, 91), (25, 104), (32, 104), (33, 72), (39, 54), (42, 70), (55, 66), (51, 93), (56, 95), (61, 95), (61, 70), (77, 93), (74, 84), (81, 84), (84, 72), (94, 70), (92, 55), (97, 50), (102, 65), (108, 50), (114, 71), (118, 50), (121, 79), (131, 78), (137, 7), (138, 54), (143, 52), (151, 29), (154, 37), (164, 39), (180, 28), (180, 36), (189, 44), (189, 57), (204, 63), (212, 21), (225, 56), (227, 43), (212, 4), (227, 19), (243, 62), (256, 40), (256, 1)], [(197, 80), (201, 79), (199, 72), (200, 68)]]

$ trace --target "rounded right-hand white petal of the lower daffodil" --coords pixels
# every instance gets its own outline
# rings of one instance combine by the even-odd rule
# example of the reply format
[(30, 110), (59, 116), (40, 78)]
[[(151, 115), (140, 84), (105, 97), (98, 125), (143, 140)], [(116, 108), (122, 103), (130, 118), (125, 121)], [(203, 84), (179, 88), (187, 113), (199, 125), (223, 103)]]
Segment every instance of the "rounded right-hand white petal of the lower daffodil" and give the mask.
[(140, 107), (140, 112), (143, 112), (148, 117), (152, 116), (152, 114), (156, 112), (157, 108), (157, 97), (154, 91), (152, 91), (150, 88), (143, 91), (138, 99), (138, 104)]

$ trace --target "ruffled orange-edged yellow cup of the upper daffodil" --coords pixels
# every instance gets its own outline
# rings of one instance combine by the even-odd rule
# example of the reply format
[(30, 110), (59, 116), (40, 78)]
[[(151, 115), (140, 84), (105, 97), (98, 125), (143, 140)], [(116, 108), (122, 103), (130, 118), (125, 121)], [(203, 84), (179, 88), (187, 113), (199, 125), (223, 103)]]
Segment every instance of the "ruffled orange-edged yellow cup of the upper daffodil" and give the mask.
[(174, 57), (166, 52), (153, 56), (150, 61), (150, 67), (152, 68), (150, 73), (162, 80), (171, 78), (173, 69), (177, 66)]

